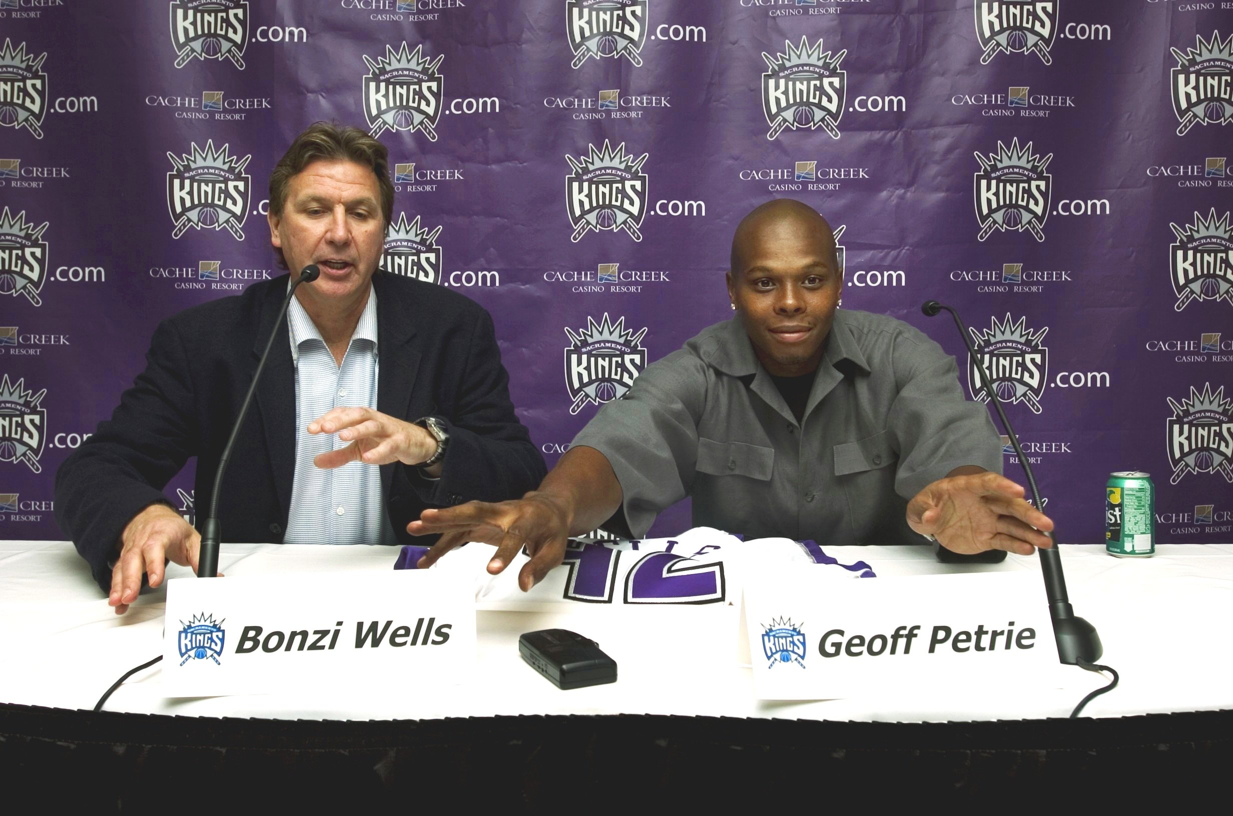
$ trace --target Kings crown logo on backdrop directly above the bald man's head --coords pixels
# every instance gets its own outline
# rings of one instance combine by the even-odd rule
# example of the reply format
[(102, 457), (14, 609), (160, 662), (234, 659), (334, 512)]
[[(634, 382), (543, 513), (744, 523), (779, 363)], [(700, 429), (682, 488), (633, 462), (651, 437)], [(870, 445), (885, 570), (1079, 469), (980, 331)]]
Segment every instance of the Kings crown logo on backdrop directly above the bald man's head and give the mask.
[(847, 49), (831, 55), (822, 51), (822, 41), (810, 46), (805, 37), (800, 46), (784, 41), (782, 54), (762, 52), (767, 73), (762, 74), (762, 112), (774, 139), (785, 127), (822, 128), (831, 138), (840, 138), (843, 100), (847, 99), (847, 71), (840, 63)]

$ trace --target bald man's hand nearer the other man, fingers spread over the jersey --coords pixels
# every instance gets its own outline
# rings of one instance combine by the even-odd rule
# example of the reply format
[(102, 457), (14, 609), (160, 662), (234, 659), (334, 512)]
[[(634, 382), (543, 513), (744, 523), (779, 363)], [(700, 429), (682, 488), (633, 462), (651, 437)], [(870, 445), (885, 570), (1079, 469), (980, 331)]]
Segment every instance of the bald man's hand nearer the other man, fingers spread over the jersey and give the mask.
[(497, 547), (488, 561), (488, 572), (496, 576), (525, 546), (531, 560), (518, 573), (518, 585), (526, 592), (543, 581), (549, 569), (561, 563), (571, 521), (561, 498), (531, 492), (517, 502), (467, 502), (440, 510), (424, 510), (418, 521), (407, 525), (407, 532), (441, 534), (440, 540), (419, 560), (420, 569), (433, 566), (460, 544), (481, 541)]

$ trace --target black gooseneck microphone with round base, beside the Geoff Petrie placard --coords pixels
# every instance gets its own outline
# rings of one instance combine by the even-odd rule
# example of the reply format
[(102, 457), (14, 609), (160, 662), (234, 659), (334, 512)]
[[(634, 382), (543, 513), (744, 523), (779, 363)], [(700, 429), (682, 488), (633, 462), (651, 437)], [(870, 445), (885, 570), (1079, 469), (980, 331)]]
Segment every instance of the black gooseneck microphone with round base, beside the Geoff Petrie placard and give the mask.
[[(1018, 436), (1015, 435), (1015, 429), (1011, 428), (1010, 420), (1006, 419), (1006, 412), (1002, 410), (1001, 401), (997, 399), (997, 394), (994, 393), (994, 388), (989, 383), (985, 367), (980, 365), (980, 359), (977, 356), (977, 348), (972, 343), (968, 328), (959, 319), (959, 313), (944, 303), (925, 301), (921, 304), (921, 312), (927, 317), (933, 317), (942, 309), (949, 312), (951, 317), (954, 318), (954, 324), (959, 329), (959, 337), (963, 338), (963, 344), (968, 346), (968, 357), (979, 373), (980, 385), (984, 387), (989, 402), (997, 409), (997, 417), (1002, 422), (1002, 428), (1006, 429), (1010, 444), (1015, 447), (1015, 454), (1018, 455), (1018, 461), (1023, 466), (1023, 473), (1027, 475), (1027, 483), (1032, 488), (1032, 499), (1036, 502), (1036, 509), (1039, 510), (1041, 492), (1036, 488), (1036, 477), (1032, 475), (1032, 466), (1028, 463), (1027, 456), (1023, 456), (1023, 450), (1018, 446)], [(1041, 572), (1044, 574), (1044, 594), (1049, 599), (1049, 618), (1053, 619), (1053, 639), (1058, 645), (1058, 659), (1071, 664), (1078, 664), (1080, 659), (1089, 663), (1097, 661), (1104, 653), (1104, 648), (1100, 645), (1100, 635), (1096, 634), (1095, 626), (1083, 618), (1075, 616), (1070, 599), (1067, 597), (1067, 579), (1062, 572), (1062, 555), (1058, 552), (1058, 540), (1054, 534), (1049, 532), (1048, 535), (1053, 540), (1053, 546), (1048, 550), (1037, 550), (1037, 552), (1041, 555)]]

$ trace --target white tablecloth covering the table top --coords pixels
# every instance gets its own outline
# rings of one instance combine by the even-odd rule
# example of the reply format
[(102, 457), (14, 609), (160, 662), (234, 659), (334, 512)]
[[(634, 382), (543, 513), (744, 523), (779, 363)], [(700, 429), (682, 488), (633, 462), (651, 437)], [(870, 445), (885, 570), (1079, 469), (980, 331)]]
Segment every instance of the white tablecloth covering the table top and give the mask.
[[(825, 545), (824, 545), (825, 546)], [(1036, 557), (1001, 565), (937, 563), (928, 547), (825, 547), (840, 561), (864, 560), (879, 576), (1016, 571), (1039, 573)], [(224, 545), (219, 571), (232, 574), (330, 572), (363, 581), (387, 571), (397, 550)], [(1169, 545), (1153, 558), (1121, 560), (1102, 546), (1063, 546), (1070, 600), (1100, 632), (1102, 663), (1122, 674), (1117, 689), (1084, 710), (1090, 716), (1233, 708), (1233, 546)], [(171, 565), (169, 577), (191, 574)], [(1044, 603), (1044, 588), (1041, 587)], [(89, 709), (126, 671), (162, 651), (162, 589), (117, 616), (67, 542), (0, 541), (0, 701)], [(699, 609), (699, 608), (693, 608)], [(117, 711), (255, 717), (435, 719), (519, 714), (671, 714), (827, 720), (944, 721), (1067, 716), (1102, 675), (1073, 669), (1064, 688), (967, 688), (887, 699), (763, 703), (751, 671), (736, 664), (726, 626), (690, 634), (690, 608), (478, 613), (478, 664), (465, 685), (432, 678), (372, 678), (364, 694), (280, 694), (165, 699), (158, 666), (132, 677), (109, 700)], [(711, 614), (708, 620), (714, 621)], [(731, 616), (735, 626), (735, 614)], [(615, 684), (561, 692), (518, 655), (522, 632), (560, 626), (599, 642), (620, 667)], [(723, 631), (715, 631), (723, 630)], [(1043, 635), (1043, 632), (1042, 632)]]

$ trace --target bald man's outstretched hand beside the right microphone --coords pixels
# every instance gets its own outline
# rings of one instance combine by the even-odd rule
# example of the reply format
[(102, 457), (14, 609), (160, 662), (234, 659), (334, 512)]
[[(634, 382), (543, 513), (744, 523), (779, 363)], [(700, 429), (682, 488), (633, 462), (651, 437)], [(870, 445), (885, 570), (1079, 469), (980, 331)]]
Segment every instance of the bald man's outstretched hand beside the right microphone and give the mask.
[(1030, 556), (1053, 546), (1046, 535), (1053, 520), (1023, 500), (1022, 486), (991, 472), (926, 486), (907, 503), (907, 525), (963, 555), (1006, 550)]

